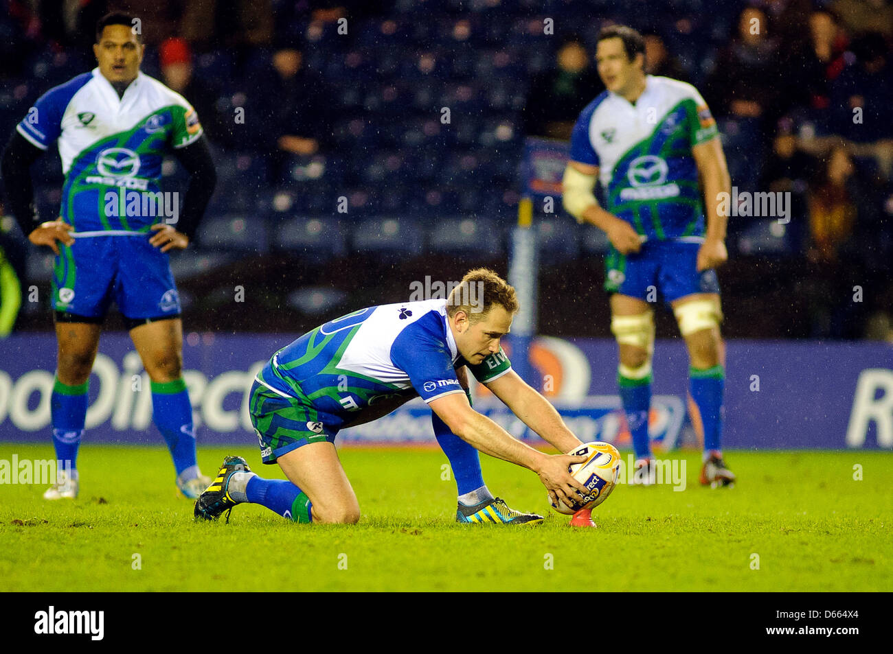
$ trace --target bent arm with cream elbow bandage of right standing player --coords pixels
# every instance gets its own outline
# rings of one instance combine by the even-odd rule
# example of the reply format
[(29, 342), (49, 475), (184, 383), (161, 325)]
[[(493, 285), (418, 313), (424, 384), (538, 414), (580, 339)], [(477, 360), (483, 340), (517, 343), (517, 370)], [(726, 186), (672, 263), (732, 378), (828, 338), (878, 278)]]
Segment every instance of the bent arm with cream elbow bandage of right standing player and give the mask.
[(592, 195), (597, 178), (598, 166), (568, 161), (563, 178), (564, 208), (578, 221), (595, 225), (604, 231), (617, 252), (638, 252), (642, 246), (641, 236), (626, 220), (602, 209)]

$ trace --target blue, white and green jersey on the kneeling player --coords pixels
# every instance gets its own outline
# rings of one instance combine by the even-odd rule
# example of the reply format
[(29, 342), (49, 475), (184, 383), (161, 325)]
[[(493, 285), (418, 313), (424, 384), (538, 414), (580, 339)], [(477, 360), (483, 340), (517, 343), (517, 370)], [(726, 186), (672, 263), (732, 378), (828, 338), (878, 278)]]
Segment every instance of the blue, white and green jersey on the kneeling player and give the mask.
[(374, 412), (376, 402), (464, 393), (455, 374), (462, 366), (482, 383), (512, 368), (502, 349), (469, 364), (447, 325), (447, 300), (424, 300), (369, 307), (316, 327), (276, 352), (257, 380), (337, 418), (327, 422), (337, 427)]

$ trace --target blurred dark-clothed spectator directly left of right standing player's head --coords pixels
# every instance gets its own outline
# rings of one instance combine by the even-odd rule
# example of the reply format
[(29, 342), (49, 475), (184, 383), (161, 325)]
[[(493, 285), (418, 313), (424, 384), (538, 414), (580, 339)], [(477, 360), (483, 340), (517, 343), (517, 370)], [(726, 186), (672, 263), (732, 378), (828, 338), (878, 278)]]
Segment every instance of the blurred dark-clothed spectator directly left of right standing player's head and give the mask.
[(529, 136), (571, 139), (573, 123), (589, 100), (605, 90), (577, 37), (566, 38), (555, 55), (555, 68), (530, 82), (524, 108)]

